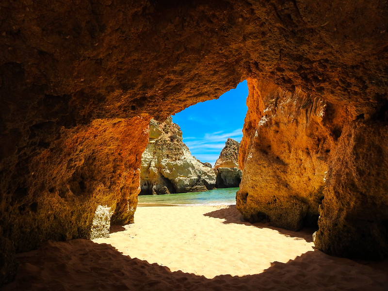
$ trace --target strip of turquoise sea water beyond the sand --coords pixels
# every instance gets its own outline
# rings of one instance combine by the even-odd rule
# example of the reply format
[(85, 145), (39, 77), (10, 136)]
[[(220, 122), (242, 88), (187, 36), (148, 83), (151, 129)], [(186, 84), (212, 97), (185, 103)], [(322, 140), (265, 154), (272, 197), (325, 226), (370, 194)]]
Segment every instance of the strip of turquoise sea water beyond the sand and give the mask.
[(239, 188), (223, 188), (205, 192), (178, 193), (166, 195), (140, 195), (138, 206), (151, 205), (235, 205), (236, 192)]

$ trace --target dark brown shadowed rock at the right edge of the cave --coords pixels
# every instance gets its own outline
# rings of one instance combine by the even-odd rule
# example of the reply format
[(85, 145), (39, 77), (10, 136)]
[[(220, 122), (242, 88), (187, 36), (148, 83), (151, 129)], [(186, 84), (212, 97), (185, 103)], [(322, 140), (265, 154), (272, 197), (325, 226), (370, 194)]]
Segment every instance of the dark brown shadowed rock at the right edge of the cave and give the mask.
[[(344, 125), (326, 174), (315, 245), (361, 259), (388, 256), (388, 116)], [(381, 119), (382, 118), (382, 119)]]

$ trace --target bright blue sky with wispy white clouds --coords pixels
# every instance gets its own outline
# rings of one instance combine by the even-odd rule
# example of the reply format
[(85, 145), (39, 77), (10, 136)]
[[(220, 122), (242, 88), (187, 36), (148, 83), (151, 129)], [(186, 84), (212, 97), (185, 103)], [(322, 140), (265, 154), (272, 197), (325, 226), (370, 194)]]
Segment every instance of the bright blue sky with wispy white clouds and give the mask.
[(218, 99), (197, 103), (173, 115), (183, 132), (183, 142), (195, 158), (213, 166), (228, 137), (240, 142), (247, 111), (246, 81)]

